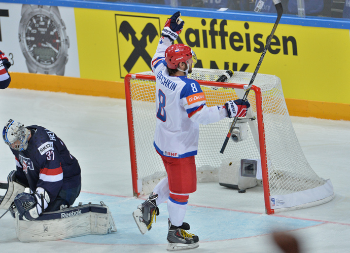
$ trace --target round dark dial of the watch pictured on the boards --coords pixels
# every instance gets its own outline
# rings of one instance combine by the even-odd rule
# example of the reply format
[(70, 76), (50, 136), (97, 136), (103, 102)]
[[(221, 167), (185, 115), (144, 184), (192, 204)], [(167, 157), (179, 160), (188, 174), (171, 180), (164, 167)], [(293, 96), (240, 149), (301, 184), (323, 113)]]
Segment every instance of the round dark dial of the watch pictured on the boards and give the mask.
[(25, 24), (28, 53), (43, 65), (53, 64), (60, 53), (61, 34), (57, 24), (48, 16), (37, 14)]

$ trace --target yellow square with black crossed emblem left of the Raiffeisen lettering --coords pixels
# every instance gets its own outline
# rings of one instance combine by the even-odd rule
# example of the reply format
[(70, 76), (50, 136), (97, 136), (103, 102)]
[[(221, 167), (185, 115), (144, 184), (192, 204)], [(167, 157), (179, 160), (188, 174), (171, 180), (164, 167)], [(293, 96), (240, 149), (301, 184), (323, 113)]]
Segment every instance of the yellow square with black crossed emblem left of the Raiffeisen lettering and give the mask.
[(150, 67), (152, 56), (160, 38), (159, 18), (145, 16), (115, 15), (120, 77), (130, 71), (145, 71)]

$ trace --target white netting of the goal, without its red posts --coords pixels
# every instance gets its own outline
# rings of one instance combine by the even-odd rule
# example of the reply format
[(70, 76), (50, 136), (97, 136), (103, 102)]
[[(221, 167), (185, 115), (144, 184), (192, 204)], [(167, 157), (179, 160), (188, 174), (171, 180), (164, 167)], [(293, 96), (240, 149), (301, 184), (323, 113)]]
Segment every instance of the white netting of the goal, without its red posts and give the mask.
[[(194, 68), (189, 78), (216, 81), (224, 70)], [(153, 75), (152, 72), (140, 73)], [(227, 83), (248, 85), (251, 73), (235, 72)], [(133, 134), (137, 165), (138, 192), (148, 194), (166, 172), (161, 158), (153, 147), (156, 125), (155, 82), (131, 79), (130, 96), (133, 119)], [(266, 145), (266, 161), (270, 195), (285, 195), (324, 185), (310, 167), (300, 148), (289, 117), (283, 95), (281, 80), (276, 76), (258, 74), (254, 85), (261, 88), (262, 111)], [(201, 85), (207, 106), (221, 105), (228, 100), (241, 98), (244, 90)], [(251, 103), (248, 117), (257, 117), (255, 92), (248, 96)], [(217, 171), (226, 158), (260, 159), (257, 120), (248, 124), (249, 136), (246, 140), (227, 144), (224, 154), (219, 153), (232, 120), (200, 125), (198, 155), (195, 158), (197, 170)], [(142, 189), (141, 187), (142, 182)]]

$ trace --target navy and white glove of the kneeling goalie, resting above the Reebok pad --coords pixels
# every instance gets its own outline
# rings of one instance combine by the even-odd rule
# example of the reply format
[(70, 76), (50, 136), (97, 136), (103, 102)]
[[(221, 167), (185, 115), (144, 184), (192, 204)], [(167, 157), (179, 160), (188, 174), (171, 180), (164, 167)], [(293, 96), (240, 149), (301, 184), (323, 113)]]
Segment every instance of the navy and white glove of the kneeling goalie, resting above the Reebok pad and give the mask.
[(47, 208), (50, 197), (43, 188), (38, 187), (37, 192), (18, 194), (14, 202), (23, 220), (34, 221)]

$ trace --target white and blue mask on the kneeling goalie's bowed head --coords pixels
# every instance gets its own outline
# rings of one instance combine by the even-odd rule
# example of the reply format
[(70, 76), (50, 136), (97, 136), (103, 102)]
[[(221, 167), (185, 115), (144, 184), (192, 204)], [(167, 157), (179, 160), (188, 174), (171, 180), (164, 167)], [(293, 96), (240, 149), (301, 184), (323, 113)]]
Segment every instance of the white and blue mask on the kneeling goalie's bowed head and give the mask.
[(29, 130), (21, 123), (9, 120), (3, 130), (3, 138), (12, 149), (24, 151), (28, 147)]

